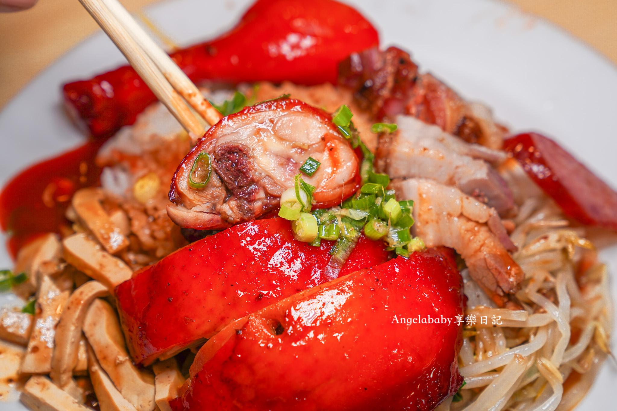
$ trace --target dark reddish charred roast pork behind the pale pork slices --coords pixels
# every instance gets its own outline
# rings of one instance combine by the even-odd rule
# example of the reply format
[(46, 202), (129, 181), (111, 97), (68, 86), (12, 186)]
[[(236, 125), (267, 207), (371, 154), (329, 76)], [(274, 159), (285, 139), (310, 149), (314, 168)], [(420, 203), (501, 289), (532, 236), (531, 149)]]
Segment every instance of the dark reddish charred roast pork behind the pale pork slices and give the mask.
[(377, 120), (408, 114), (466, 142), (502, 148), (507, 129), (495, 123), (489, 108), (463, 100), (429, 73), (419, 75), (409, 54), (397, 47), (352, 53), (339, 65), (338, 81)]

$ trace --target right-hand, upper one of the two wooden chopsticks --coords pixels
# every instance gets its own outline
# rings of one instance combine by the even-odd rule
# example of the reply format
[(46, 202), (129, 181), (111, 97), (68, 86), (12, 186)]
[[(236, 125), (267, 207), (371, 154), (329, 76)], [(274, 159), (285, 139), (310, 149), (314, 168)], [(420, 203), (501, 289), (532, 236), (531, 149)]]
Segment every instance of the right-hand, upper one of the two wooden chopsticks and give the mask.
[(147, 35), (146, 31), (135, 21), (133, 16), (120, 4), (118, 0), (101, 0), (101, 2), (107, 6), (109, 11), (118, 22), (128, 31), (133, 40), (146, 52), (146, 54), (152, 59), (152, 61), (159, 67), (165, 78), (172, 83), (173, 88), (178, 91), (186, 101), (201, 115), (205, 121), (213, 126), (221, 120), (223, 116), (218, 110), (204, 99), (199, 89), (188, 78), (184, 71), (180, 70), (180, 67), (165, 53), (162, 49), (154, 43), (152, 38)]

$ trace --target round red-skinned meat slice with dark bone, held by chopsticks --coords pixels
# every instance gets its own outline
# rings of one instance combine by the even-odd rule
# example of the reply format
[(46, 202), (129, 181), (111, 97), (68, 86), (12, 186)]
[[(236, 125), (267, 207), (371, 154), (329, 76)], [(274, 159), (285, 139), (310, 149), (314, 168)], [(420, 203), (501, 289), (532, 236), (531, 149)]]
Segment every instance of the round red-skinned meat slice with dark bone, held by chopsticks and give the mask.
[[(209, 174), (196, 163), (202, 153), (209, 155)], [(295, 99), (246, 107), (212, 126), (184, 157), (173, 176), (167, 214), (193, 229), (259, 218), (278, 208), (309, 157), (321, 163), (313, 176), (302, 175), (315, 186), (315, 206), (334, 206), (357, 190), (358, 158), (329, 115)], [(191, 171), (200, 167), (201, 175)], [(189, 176), (205, 186), (191, 185)]]

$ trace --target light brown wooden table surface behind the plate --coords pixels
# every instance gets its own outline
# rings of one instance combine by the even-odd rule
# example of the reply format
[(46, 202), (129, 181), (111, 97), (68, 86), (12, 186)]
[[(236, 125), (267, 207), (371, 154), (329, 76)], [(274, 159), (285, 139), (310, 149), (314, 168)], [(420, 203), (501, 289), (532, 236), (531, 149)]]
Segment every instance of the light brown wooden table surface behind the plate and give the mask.
[[(617, 64), (617, 0), (510, 1), (560, 25)], [(152, 2), (122, 0), (131, 12)], [(0, 109), (39, 71), (96, 30), (77, 0), (39, 0), (33, 9), (0, 14)]]

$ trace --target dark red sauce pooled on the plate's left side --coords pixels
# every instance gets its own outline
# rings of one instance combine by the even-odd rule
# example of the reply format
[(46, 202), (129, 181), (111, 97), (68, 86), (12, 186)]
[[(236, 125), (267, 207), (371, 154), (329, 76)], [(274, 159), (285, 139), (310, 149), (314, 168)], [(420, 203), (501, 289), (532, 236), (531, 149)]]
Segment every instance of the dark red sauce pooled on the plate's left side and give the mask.
[(0, 225), (15, 258), (22, 246), (47, 232), (62, 234), (70, 227), (64, 214), (75, 191), (99, 184), (101, 169), (94, 157), (101, 140), (25, 169), (0, 193)]

